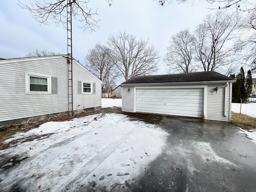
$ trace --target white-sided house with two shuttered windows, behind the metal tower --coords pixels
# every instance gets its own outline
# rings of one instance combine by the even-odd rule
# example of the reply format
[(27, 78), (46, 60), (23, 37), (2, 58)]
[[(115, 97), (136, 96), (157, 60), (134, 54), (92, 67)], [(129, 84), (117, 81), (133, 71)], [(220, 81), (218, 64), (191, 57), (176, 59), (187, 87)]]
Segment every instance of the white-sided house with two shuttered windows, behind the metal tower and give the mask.
[[(70, 114), (67, 63), (66, 55), (0, 60), (0, 126)], [(72, 71), (74, 113), (100, 109), (103, 82), (74, 59)]]

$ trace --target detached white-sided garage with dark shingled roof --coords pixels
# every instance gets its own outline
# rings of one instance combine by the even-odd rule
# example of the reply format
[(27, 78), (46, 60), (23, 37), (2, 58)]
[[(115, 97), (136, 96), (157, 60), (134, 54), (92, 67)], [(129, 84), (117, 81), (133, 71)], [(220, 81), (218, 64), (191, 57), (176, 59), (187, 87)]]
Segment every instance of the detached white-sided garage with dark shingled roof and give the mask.
[(229, 122), (232, 82), (214, 71), (138, 76), (121, 84), (122, 111)]

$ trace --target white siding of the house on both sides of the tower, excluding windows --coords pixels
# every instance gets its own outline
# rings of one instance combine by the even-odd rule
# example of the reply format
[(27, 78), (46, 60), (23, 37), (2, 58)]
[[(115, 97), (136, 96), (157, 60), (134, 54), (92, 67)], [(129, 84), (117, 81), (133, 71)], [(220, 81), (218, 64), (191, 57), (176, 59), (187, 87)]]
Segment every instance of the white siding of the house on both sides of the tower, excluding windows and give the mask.
[[(56, 78), (52, 94), (26, 94), (26, 73)], [(0, 122), (68, 111), (68, 68), (62, 56), (0, 61)], [(78, 80), (96, 83), (96, 94), (77, 94)], [(74, 110), (101, 106), (101, 82), (73, 62)], [(80, 104), (80, 106), (77, 106)]]

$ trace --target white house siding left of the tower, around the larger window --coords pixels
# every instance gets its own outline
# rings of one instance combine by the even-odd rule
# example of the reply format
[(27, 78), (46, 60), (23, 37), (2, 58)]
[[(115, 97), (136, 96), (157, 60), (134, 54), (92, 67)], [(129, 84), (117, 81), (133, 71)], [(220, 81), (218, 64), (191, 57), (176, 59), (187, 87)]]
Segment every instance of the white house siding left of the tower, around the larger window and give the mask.
[[(67, 111), (65, 64), (63, 57), (0, 62), (0, 121)], [(60, 82), (58, 94), (26, 94), (26, 73), (56, 77)]]

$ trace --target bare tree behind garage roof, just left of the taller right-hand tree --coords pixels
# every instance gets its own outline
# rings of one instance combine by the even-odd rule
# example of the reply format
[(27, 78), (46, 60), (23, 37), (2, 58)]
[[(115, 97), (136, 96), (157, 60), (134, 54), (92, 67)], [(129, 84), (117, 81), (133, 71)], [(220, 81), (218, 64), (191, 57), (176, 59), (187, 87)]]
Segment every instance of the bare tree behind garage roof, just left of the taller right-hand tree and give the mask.
[(168, 72), (189, 73), (196, 70), (196, 66), (191, 63), (194, 58), (195, 38), (188, 29), (173, 35), (170, 45), (167, 47), (167, 53), (164, 62), (167, 63)]

